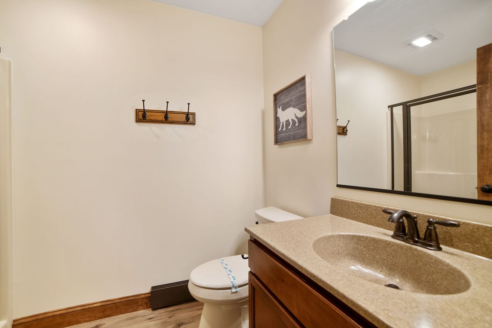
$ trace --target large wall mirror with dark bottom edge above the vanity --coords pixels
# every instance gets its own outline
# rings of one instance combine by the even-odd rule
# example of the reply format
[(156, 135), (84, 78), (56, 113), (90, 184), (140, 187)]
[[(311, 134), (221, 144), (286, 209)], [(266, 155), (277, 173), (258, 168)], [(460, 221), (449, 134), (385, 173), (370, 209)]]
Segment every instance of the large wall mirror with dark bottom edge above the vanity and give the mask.
[(375, 0), (333, 29), (338, 187), (492, 205), (491, 14)]

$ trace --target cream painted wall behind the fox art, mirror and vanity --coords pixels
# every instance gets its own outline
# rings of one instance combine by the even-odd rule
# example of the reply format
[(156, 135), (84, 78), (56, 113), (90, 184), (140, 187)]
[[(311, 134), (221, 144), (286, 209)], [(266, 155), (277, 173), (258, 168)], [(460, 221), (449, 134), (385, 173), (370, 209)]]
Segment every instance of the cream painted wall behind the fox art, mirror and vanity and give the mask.
[[(313, 216), (328, 213), (330, 197), (338, 196), (491, 224), (491, 206), (336, 187), (331, 30), (353, 6), (350, 0), (284, 0), (263, 27), (266, 204)], [(313, 139), (274, 146), (272, 95), (304, 74), (312, 79)]]

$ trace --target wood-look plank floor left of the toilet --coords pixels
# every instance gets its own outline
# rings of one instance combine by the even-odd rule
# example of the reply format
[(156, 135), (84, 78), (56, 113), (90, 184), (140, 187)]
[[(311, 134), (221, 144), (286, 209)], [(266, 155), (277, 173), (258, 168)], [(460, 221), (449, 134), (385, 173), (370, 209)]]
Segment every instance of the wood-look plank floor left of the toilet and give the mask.
[(68, 328), (198, 328), (203, 303), (192, 301), (94, 320)]

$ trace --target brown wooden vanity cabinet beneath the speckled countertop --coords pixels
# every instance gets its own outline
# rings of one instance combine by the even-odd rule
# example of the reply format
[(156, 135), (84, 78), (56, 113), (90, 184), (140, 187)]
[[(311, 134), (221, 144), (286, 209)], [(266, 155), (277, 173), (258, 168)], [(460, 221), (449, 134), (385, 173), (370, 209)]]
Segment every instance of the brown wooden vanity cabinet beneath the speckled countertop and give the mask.
[(249, 328), (375, 327), (257, 240), (248, 253)]

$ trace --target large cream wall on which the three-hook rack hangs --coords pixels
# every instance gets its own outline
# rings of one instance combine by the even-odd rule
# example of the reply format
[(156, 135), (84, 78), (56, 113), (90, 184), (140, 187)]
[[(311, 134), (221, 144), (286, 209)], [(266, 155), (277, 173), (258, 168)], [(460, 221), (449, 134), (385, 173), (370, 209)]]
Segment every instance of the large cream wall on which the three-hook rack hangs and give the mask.
[[(150, 0), (2, 0), (14, 317), (246, 252), (264, 206), (261, 28)], [(134, 109), (196, 111), (196, 126)]]

